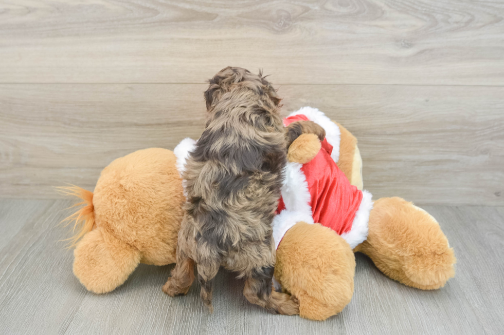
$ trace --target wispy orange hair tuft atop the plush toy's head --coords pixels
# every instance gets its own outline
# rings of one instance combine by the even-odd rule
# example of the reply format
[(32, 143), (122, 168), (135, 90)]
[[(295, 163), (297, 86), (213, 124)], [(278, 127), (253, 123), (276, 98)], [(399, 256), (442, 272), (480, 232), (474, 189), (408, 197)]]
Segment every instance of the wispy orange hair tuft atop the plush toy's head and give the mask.
[[(66, 219), (62, 221), (66, 222), (65, 227), (71, 222), (74, 222), (74, 228), (72, 233), (74, 234), (71, 238), (66, 239), (69, 241), (68, 247), (73, 248), (77, 244), (80, 238), (84, 236), (85, 233), (91, 231), (95, 225), (95, 209), (93, 207), (93, 192), (85, 190), (75, 185), (56, 187), (57, 191), (68, 196), (77, 197), (81, 202), (71, 206), (69, 208), (79, 207), (79, 209), (69, 215)], [(74, 221), (75, 220), (75, 221)]]

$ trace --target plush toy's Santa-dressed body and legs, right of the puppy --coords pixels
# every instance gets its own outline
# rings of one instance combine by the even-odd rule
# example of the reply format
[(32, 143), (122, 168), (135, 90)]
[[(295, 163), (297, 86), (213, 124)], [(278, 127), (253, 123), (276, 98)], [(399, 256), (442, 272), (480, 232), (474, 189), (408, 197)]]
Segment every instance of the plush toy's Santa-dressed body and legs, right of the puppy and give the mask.
[(455, 274), (456, 260), (433, 216), (397, 197), (373, 203), (371, 194), (361, 191), (355, 137), (314, 108), (292, 113), (284, 124), (299, 120), (326, 130), (322, 144), (310, 134), (292, 143), (273, 227), (276, 286), (299, 299), (300, 316), (325, 320), (350, 302), (352, 250), (367, 254), (383, 273), (405, 285), (444, 286)]

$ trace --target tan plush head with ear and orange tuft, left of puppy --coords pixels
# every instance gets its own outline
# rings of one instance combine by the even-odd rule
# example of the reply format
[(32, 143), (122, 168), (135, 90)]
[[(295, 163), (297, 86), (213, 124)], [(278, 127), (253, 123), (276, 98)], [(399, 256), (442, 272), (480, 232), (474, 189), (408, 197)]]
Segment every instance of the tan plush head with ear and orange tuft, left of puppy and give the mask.
[(66, 188), (85, 204), (73, 215), (78, 221), (83, 215), (85, 233), (74, 251), (74, 273), (88, 290), (112, 291), (139, 263), (175, 262), (185, 201), (175, 162), (170, 150), (138, 150), (104, 168), (93, 193)]

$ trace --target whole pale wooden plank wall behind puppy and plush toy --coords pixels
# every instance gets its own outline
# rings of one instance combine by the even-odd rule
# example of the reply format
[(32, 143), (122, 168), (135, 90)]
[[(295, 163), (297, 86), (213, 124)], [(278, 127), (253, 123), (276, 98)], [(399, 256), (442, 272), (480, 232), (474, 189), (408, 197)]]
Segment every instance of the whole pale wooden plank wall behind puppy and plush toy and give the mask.
[(202, 131), (205, 80), (264, 69), (284, 113), (359, 140), (364, 184), (504, 205), (504, 3), (0, 0), (0, 197), (92, 189), (140, 148)]

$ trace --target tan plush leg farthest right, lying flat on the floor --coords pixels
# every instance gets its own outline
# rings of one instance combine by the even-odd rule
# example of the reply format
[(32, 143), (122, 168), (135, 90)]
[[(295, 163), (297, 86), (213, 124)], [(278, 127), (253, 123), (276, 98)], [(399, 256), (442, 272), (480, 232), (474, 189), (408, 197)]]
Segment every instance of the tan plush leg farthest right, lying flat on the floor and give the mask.
[(455, 275), (454, 252), (437, 221), (397, 197), (374, 202), (368, 238), (354, 251), (367, 254), (388, 277), (420, 289), (443, 287)]

